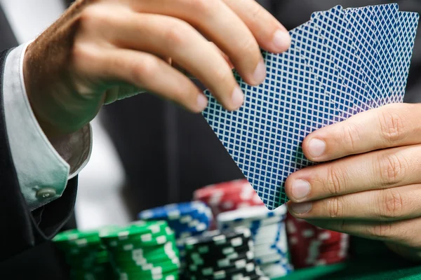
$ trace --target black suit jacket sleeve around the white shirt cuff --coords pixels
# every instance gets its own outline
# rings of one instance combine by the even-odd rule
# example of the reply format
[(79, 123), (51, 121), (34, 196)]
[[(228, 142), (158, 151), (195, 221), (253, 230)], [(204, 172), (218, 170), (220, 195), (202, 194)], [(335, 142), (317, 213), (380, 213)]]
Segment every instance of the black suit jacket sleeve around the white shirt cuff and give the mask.
[(0, 261), (51, 239), (72, 215), (77, 177), (57, 200), (30, 211), (13, 165), (4, 118), (3, 77), (9, 50), (0, 52)]

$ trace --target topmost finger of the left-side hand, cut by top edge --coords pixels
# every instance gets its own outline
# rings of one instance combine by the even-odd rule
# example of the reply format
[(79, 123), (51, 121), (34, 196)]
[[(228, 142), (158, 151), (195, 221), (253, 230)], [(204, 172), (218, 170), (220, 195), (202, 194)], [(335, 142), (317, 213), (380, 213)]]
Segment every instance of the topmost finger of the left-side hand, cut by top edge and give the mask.
[(284, 52), (291, 44), (288, 31), (257, 1), (224, 0), (253, 33), (259, 45), (269, 52)]

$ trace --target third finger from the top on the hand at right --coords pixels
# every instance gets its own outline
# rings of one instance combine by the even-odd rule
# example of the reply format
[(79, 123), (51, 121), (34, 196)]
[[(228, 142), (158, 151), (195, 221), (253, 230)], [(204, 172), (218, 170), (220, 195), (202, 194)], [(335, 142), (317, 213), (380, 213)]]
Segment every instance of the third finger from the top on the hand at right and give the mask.
[(421, 185), (370, 190), (314, 202), (288, 202), (293, 216), (315, 220), (399, 221), (421, 216)]

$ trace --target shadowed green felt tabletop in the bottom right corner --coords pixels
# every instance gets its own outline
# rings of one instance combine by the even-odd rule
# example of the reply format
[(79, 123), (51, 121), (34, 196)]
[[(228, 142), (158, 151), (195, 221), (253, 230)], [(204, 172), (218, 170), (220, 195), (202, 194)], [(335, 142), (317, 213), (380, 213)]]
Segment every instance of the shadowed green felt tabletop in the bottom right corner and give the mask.
[(379, 241), (352, 239), (352, 257), (335, 265), (298, 269), (276, 280), (421, 280), (421, 264), (395, 255)]

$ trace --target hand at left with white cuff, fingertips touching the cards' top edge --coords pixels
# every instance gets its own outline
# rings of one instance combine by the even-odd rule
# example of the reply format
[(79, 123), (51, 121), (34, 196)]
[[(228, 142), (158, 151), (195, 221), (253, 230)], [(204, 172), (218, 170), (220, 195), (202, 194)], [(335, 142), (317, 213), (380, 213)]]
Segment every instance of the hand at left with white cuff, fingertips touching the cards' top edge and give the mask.
[(200, 112), (206, 97), (183, 72), (235, 110), (243, 93), (224, 54), (258, 85), (266, 76), (259, 45), (283, 52), (290, 37), (254, 0), (79, 0), (29, 45), (25, 86), (48, 137), (79, 130), (139, 88)]

